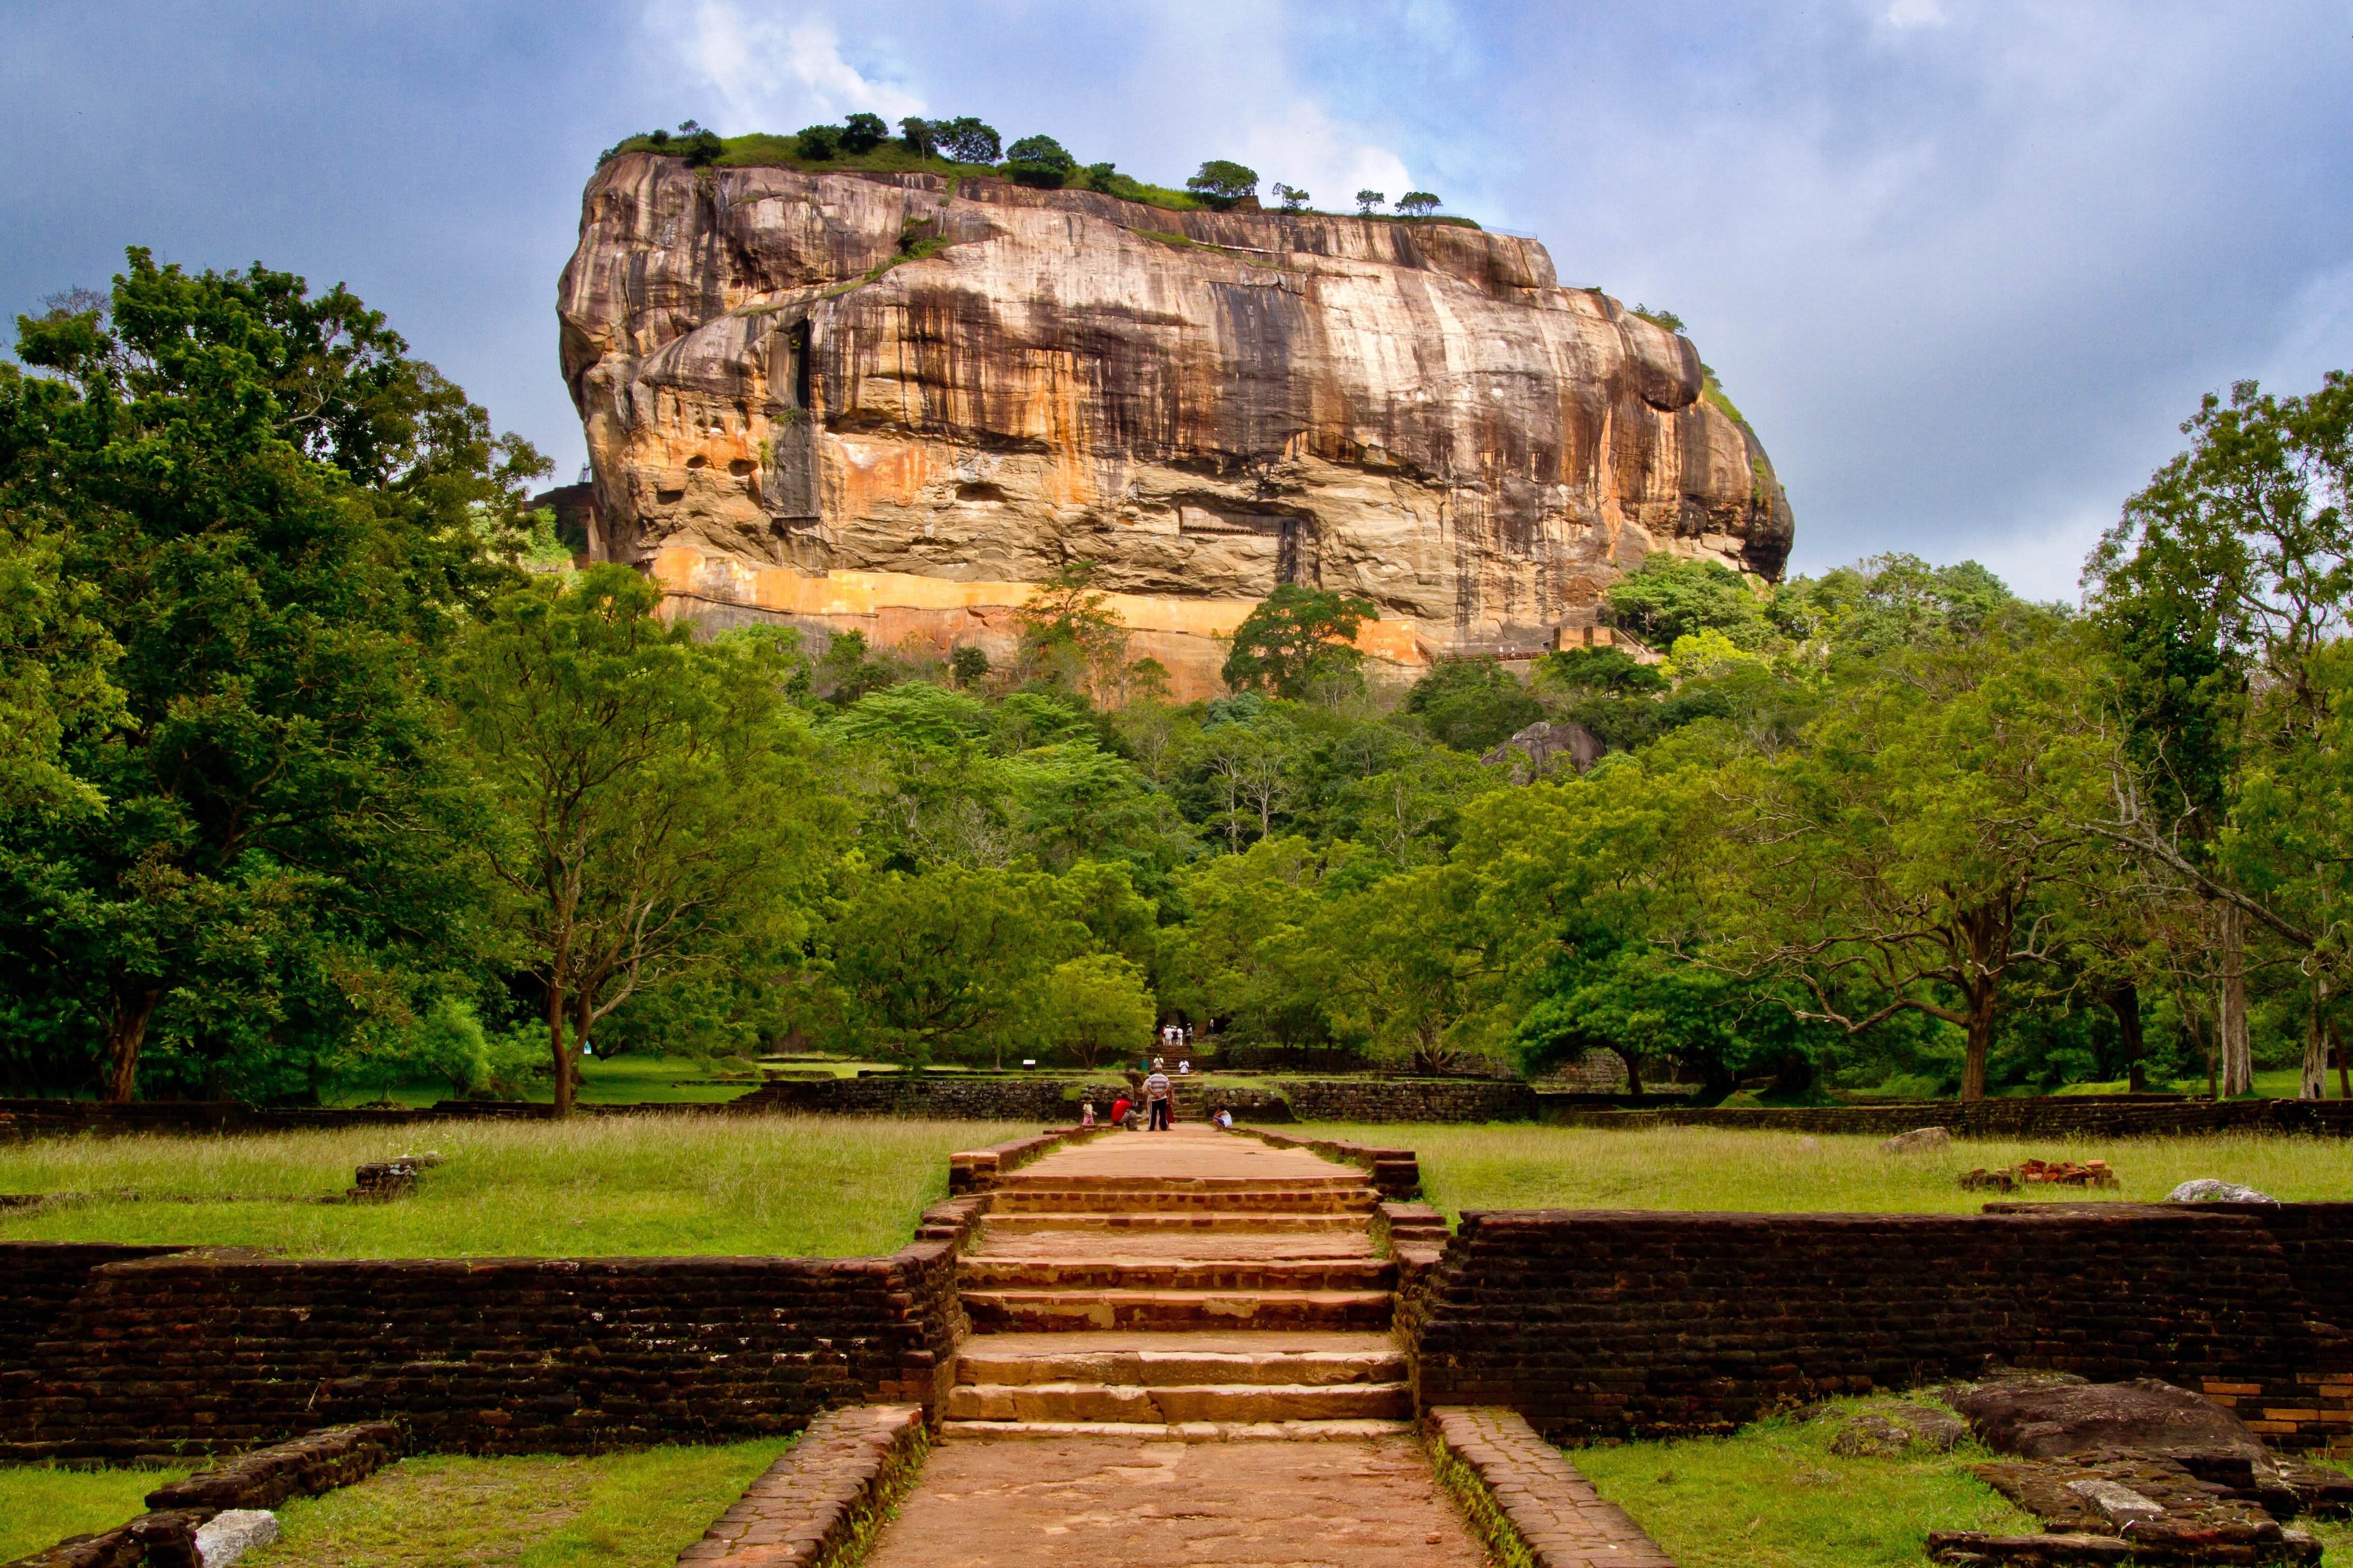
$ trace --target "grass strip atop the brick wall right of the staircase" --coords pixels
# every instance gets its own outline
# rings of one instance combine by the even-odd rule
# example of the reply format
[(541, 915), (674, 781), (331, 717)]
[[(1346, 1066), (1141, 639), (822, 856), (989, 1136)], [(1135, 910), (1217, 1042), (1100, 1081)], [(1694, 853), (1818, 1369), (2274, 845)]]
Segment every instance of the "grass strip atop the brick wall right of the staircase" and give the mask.
[[(1922, 1121), (1934, 1121), (1925, 1114)], [(2153, 1201), (2193, 1175), (2247, 1182), (2275, 1199), (2353, 1199), (2353, 1138), (2212, 1133), (2198, 1138), (1955, 1140), (1946, 1154), (1880, 1154), (1873, 1135), (1748, 1133), (1708, 1126), (1304, 1126), (1285, 1128), (1409, 1147), (1424, 1197), (1466, 1208), (1699, 1208), (1739, 1213), (1977, 1213), (2005, 1194), (1962, 1192), (1972, 1166), (2106, 1159), (2113, 1197)], [(2019, 1199), (2082, 1201), (2080, 1190)]]

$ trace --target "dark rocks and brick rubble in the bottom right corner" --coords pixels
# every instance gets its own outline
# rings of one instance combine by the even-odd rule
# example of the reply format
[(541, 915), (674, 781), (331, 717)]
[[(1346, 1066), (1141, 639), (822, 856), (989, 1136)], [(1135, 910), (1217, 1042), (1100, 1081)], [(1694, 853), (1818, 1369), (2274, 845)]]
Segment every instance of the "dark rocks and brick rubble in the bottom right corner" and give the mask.
[(2318, 1563), (2289, 1521), (2353, 1509), (2353, 1476), (2280, 1460), (2231, 1410), (2148, 1378), (2017, 1375), (1948, 1401), (2021, 1455), (1974, 1474), (2045, 1533), (1937, 1530), (1937, 1563)]

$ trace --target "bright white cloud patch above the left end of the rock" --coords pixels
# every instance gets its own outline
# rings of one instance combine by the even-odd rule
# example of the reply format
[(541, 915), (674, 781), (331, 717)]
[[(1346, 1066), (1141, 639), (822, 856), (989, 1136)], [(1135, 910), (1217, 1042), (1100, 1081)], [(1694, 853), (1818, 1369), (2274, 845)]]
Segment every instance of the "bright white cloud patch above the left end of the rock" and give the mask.
[(685, 26), (675, 7), (656, 0), (645, 21), (668, 33), (682, 63), (718, 94), (727, 132), (795, 132), (859, 110), (885, 120), (922, 110), (913, 92), (845, 61), (840, 35), (824, 21), (784, 24), (732, 0), (704, 0)]

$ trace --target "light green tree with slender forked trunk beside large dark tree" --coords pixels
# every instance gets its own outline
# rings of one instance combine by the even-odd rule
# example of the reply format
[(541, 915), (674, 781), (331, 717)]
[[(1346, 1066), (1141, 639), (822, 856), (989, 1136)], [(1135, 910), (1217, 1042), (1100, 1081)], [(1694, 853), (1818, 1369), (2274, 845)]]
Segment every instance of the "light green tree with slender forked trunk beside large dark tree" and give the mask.
[(449, 668), (452, 729), (496, 799), (473, 846), (546, 990), (558, 1117), (595, 1023), (746, 929), (800, 924), (845, 825), (786, 698), (791, 644), (696, 642), (659, 609), (626, 567), (536, 581)]

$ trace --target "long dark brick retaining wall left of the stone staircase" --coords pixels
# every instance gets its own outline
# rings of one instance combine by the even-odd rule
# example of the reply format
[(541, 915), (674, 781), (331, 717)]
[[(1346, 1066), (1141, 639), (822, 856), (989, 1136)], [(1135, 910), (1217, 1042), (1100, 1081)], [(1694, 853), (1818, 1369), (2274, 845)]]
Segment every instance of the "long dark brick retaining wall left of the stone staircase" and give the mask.
[[(0, 1458), (252, 1446), (360, 1420), (400, 1422), (414, 1448), (579, 1453), (934, 1403), (974, 1211), (936, 1206), (889, 1258), (101, 1262), (0, 1361)], [(19, 1255), (0, 1248), (0, 1269)]]

